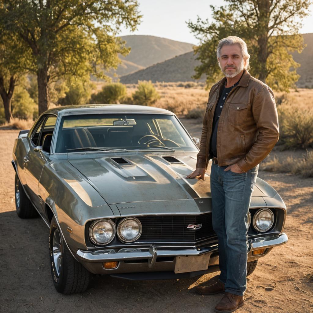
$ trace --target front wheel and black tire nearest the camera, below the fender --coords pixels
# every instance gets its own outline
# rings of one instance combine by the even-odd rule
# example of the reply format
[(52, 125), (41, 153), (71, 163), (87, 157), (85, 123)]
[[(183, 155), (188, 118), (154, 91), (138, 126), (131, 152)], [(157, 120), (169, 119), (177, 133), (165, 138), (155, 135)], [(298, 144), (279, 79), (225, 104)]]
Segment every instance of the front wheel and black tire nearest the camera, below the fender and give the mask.
[(52, 218), (50, 224), (49, 252), (55, 289), (63, 294), (85, 291), (88, 288), (90, 272), (78, 263), (69, 252), (55, 217)]

